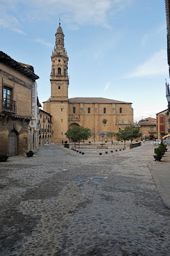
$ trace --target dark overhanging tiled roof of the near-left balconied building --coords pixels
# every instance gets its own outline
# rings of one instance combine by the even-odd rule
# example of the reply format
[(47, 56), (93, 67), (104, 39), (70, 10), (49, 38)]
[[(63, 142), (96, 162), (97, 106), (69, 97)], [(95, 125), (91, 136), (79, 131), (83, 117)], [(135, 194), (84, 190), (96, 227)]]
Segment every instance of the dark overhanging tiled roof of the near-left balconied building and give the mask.
[(13, 69), (17, 70), (21, 74), (24, 74), (24, 76), (29, 77), (33, 81), (35, 81), (36, 79), (39, 78), (31, 70), (31, 66), (30, 65), (19, 63), (18, 61), (13, 60), (10, 56), (8, 56), (6, 53), (4, 53), (2, 51), (0, 51), (0, 62), (4, 63), (4, 65), (8, 65), (8, 66), (12, 67)]

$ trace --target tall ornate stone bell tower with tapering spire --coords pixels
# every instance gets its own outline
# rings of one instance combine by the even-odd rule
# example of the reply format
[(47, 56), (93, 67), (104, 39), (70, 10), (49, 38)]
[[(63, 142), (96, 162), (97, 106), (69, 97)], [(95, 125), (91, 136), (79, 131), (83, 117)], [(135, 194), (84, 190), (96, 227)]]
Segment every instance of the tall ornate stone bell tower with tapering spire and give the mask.
[(60, 26), (56, 32), (56, 46), (52, 51), (50, 73), (51, 97), (50, 115), (52, 115), (52, 141), (61, 143), (66, 140), (68, 130), (68, 56), (65, 51), (64, 33)]

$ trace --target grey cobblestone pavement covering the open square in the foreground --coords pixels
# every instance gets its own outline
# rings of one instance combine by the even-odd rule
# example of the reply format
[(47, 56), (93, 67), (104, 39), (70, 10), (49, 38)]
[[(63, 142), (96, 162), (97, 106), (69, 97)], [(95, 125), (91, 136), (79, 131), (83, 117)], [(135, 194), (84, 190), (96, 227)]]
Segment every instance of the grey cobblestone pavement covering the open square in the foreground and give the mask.
[(150, 163), (150, 144), (102, 156), (54, 145), (0, 163), (0, 255), (169, 256)]

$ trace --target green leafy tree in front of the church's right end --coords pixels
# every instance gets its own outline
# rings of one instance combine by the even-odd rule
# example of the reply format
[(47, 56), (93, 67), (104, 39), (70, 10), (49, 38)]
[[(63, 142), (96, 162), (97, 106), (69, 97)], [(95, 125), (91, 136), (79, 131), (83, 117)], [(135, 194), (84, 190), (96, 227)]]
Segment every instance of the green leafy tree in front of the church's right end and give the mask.
[(118, 141), (123, 140), (126, 142), (127, 140), (131, 140), (131, 143), (134, 139), (141, 136), (140, 128), (135, 127), (135, 125), (126, 126), (124, 130), (115, 133), (115, 136)]

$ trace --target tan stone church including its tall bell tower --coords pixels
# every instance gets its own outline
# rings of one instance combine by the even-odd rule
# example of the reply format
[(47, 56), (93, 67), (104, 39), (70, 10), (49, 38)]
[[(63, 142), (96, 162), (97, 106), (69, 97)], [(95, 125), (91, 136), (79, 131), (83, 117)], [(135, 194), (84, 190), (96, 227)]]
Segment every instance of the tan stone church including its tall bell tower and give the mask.
[(56, 46), (51, 56), (51, 95), (43, 102), (43, 110), (52, 116), (52, 142), (65, 141), (65, 132), (73, 125), (91, 129), (89, 141), (102, 141), (107, 140), (107, 132), (118, 132), (134, 124), (130, 102), (102, 97), (68, 98), (68, 56), (60, 23), (55, 36)]

